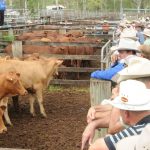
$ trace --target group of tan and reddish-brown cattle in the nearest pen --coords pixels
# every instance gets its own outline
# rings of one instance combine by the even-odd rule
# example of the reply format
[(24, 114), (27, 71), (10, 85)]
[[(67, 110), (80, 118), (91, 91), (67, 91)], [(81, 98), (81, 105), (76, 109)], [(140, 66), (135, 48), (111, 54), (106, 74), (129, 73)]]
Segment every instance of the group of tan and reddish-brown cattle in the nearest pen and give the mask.
[(0, 133), (7, 130), (3, 122), (3, 114), (6, 123), (12, 125), (8, 116), (8, 98), (15, 95), (29, 94), (30, 113), (34, 116), (34, 101), (37, 98), (40, 112), (46, 117), (43, 106), (43, 90), (48, 86), (55, 74), (58, 74), (58, 67), (62, 60), (56, 58), (29, 57), (27, 60), (0, 59)]

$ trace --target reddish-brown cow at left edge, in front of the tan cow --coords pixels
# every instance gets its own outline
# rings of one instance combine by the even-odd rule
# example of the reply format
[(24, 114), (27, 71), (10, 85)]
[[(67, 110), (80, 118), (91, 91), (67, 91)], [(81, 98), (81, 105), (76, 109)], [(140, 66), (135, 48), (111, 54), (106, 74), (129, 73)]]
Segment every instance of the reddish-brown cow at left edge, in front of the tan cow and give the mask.
[[(6, 104), (3, 104), (3, 98), (18, 94), (27, 94), (27, 91), (20, 81), (20, 74), (16, 72), (7, 72), (0, 74), (0, 133), (7, 131), (2, 118), (4, 111), (7, 111)], [(9, 122), (9, 119), (7, 121)]]

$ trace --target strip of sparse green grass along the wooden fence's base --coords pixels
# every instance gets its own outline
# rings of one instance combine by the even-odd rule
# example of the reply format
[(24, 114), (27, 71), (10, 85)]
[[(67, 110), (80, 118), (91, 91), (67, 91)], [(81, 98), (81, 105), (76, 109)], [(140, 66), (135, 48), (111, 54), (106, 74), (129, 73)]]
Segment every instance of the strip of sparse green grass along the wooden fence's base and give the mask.
[(74, 92), (89, 92), (89, 87), (75, 87), (75, 86), (61, 86), (50, 85), (48, 87), (49, 92), (62, 92), (62, 91), (74, 91)]

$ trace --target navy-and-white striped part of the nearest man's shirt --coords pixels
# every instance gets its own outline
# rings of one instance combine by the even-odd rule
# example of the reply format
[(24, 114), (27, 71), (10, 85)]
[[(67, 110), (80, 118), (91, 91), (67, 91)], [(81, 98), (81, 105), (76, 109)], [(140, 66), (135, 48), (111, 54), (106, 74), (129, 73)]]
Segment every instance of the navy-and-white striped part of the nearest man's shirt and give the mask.
[(150, 115), (144, 117), (136, 125), (130, 126), (114, 135), (104, 138), (104, 141), (109, 150), (116, 150), (116, 144), (118, 141), (122, 140), (125, 137), (130, 137), (134, 135), (141, 134), (143, 128), (150, 123)]

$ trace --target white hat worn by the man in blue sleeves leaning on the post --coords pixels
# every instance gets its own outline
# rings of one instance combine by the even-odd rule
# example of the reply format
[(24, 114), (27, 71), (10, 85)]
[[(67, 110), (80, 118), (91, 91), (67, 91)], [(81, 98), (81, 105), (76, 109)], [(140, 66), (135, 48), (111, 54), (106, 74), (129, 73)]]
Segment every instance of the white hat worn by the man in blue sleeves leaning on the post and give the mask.
[(129, 38), (121, 38), (119, 41), (119, 45), (117, 48), (118, 51), (121, 50), (133, 50), (136, 52), (140, 52), (140, 50), (138, 49), (138, 45), (137, 42), (129, 39)]

